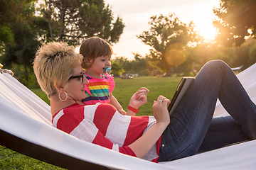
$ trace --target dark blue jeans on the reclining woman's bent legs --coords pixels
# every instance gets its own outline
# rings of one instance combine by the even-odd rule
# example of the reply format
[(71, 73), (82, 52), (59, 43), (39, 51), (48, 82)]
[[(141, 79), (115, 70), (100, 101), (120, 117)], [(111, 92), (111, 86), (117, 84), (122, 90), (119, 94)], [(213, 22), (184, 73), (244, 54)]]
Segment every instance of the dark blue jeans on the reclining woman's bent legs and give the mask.
[[(219, 98), (231, 116), (213, 118)], [(256, 139), (256, 106), (225, 62), (204, 65), (171, 116), (159, 162)]]

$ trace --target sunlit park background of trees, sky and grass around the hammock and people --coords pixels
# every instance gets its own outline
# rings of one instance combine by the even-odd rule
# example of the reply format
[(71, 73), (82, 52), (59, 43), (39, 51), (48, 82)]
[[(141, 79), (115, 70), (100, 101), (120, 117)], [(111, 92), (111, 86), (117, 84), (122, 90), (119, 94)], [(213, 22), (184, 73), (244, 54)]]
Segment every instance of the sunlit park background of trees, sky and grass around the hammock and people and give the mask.
[[(127, 108), (127, 96), (148, 87), (139, 114), (151, 115), (159, 94), (171, 98), (181, 77), (196, 76), (206, 62), (223, 60), (236, 72), (256, 62), (255, 7), (254, 0), (0, 0), (0, 63), (49, 103), (33, 74), (38, 47), (63, 41), (79, 51), (98, 36), (114, 50), (114, 96)], [(57, 167), (1, 147), (0, 169)]]

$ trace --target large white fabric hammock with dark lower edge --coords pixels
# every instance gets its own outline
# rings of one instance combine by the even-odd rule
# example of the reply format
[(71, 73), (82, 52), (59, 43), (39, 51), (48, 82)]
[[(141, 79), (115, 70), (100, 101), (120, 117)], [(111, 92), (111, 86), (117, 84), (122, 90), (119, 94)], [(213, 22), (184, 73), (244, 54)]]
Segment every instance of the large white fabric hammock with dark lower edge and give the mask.
[[(238, 74), (256, 103), (256, 64)], [(51, 126), (50, 106), (0, 74), (0, 145), (66, 169), (255, 169), (256, 140), (159, 164), (78, 140)], [(215, 116), (227, 115), (218, 102)]]

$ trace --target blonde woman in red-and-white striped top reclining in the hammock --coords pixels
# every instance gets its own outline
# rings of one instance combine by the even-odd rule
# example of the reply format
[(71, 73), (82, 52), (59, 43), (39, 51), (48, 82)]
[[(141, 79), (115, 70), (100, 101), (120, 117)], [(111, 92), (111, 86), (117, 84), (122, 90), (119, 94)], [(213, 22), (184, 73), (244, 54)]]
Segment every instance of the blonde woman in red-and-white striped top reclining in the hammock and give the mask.
[[(73, 47), (51, 42), (38, 50), (33, 65), (50, 99), (53, 126), (81, 140), (162, 162), (256, 138), (255, 103), (224, 62), (208, 62), (201, 69), (171, 118), (164, 96), (154, 101), (154, 117), (121, 115), (109, 104), (84, 106), (88, 81), (81, 62)], [(148, 93), (142, 88), (132, 96), (134, 112)], [(231, 116), (212, 118), (217, 98)]]

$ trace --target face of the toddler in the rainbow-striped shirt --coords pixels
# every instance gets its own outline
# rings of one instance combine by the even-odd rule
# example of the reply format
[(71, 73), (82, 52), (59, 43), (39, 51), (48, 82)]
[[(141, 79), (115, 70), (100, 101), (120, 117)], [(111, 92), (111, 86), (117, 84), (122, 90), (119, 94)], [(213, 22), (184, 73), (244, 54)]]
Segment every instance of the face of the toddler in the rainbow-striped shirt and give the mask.
[[(104, 69), (111, 66), (111, 55), (97, 57), (92, 63), (91, 67), (87, 69), (89, 72), (94, 72), (95, 74), (104, 74)], [(92, 60), (90, 61), (92, 62)]]

